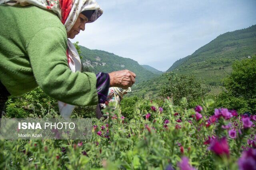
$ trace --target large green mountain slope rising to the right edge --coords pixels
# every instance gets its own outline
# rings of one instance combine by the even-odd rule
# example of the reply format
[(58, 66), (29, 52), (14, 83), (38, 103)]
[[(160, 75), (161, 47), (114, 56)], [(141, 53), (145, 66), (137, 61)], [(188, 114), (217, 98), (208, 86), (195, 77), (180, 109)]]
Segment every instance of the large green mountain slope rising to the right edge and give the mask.
[(192, 55), (176, 61), (166, 72), (194, 74), (208, 85), (221, 85), (221, 79), (230, 74), (235, 60), (255, 54), (256, 25), (252, 25), (219, 35)]

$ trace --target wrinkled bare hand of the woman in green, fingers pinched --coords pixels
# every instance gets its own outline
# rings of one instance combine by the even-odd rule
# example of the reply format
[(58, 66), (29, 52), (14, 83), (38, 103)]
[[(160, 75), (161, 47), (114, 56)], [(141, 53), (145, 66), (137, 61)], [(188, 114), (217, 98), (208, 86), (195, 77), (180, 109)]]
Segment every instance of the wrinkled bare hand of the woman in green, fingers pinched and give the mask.
[(127, 89), (135, 83), (136, 74), (129, 70), (113, 71), (108, 74), (110, 77), (110, 87)]

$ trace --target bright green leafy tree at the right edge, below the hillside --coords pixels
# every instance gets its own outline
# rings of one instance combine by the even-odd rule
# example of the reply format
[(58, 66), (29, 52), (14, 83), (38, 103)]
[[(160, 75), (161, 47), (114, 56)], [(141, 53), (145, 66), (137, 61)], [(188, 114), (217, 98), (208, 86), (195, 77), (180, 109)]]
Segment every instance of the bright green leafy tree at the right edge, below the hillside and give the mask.
[(256, 98), (256, 56), (235, 61), (231, 75), (224, 80), (224, 86), (234, 96)]

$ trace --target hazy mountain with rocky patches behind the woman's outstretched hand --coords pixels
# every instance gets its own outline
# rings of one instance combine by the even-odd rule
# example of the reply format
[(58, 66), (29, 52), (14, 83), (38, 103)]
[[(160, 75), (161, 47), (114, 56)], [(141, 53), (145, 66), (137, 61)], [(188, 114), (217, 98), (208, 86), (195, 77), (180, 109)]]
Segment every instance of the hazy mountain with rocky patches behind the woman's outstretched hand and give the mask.
[(82, 65), (91, 72), (112, 72), (128, 69), (136, 74), (136, 84), (157, 76), (157, 74), (152, 73), (132, 59), (120, 57), (106, 51), (91, 50), (83, 46), (79, 47), (82, 52), (80, 54), (82, 56)]

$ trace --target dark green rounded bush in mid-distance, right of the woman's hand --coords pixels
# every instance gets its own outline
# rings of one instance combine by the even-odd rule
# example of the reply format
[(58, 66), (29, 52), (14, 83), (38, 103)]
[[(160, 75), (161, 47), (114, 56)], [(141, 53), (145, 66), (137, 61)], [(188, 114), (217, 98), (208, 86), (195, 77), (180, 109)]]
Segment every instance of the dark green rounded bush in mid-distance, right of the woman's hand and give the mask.
[(201, 87), (201, 80), (196, 80), (195, 76), (175, 75), (172, 72), (166, 73), (168, 84), (162, 86), (160, 95), (172, 97), (175, 105), (180, 105), (183, 97), (186, 97), (189, 107), (198, 105), (206, 90)]

